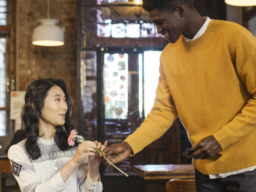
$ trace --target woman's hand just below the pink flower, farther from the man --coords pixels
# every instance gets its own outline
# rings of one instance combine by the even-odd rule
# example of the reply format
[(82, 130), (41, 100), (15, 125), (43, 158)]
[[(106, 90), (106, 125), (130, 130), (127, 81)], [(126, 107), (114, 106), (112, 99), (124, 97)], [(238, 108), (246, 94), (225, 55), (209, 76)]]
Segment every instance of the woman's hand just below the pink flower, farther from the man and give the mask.
[(71, 162), (78, 167), (86, 157), (94, 157), (96, 146), (97, 144), (91, 141), (80, 143)]

